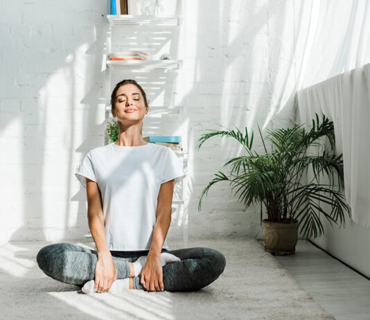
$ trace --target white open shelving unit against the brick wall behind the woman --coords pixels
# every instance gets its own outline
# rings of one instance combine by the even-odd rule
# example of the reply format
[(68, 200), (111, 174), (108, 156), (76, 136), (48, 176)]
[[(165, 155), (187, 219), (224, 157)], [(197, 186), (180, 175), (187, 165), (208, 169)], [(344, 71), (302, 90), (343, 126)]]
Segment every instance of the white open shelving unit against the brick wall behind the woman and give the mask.
[[(107, 42), (107, 52), (110, 53), (112, 48), (112, 31), (114, 28), (126, 28), (126, 27), (135, 27), (135, 30), (140, 30), (141, 26), (146, 26), (150, 28), (166, 27), (178, 27), (182, 25), (182, 17), (179, 16), (148, 16), (148, 15), (107, 15), (107, 21), (110, 26), (110, 37)], [(136, 28), (137, 27), (137, 28)], [(143, 49), (145, 50), (145, 49)], [(182, 69), (183, 62), (182, 60), (107, 60), (107, 54), (103, 57), (102, 71), (105, 71), (105, 101), (106, 101), (106, 112), (105, 118), (108, 120), (112, 114), (110, 112), (110, 96), (112, 94), (111, 89), (111, 78), (112, 72), (122, 73), (122, 78), (127, 71), (140, 70), (140, 71), (150, 71), (155, 69), (162, 69), (165, 73), (171, 72), (173, 70)], [(130, 77), (132, 78), (132, 77)], [(140, 84), (140, 79), (136, 80)], [(184, 87), (182, 85), (182, 87)], [(149, 100), (148, 100), (149, 103)], [(179, 106), (150, 106), (150, 109), (158, 110), (163, 114), (170, 114), (171, 116), (179, 117), (179, 114), (183, 115), (183, 119), (186, 117), (186, 108)], [(182, 112), (181, 112), (182, 111)], [(184, 132), (186, 134), (186, 132)], [(157, 135), (161, 135), (161, 132), (158, 132)], [(183, 135), (184, 136), (184, 135)], [(105, 144), (108, 143), (107, 137), (105, 137)], [(188, 160), (188, 151), (187, 145), (184, 144), (184, 139), (182, 139), (182, 148), (183, 150), (174, 150), (179, 160), (182, 160), (184, 169), (187, 168)], [(186, 171), (186, 170), (184, 170)], [(177, 208), (177, 217), (182, 217), (182, 233), (184, 247), (188, 247), (188, 204), (186, 201), (186, 177), (182, 181), (182, 192), (180, 195), (174, 192), (173, 207)], [(178, 199), (179, 198), (179, 199)], [(179, 218), (177, 218), (177, 226), (179, 227)], [(172, 225), (172, 222), (171, 222)], [(170, 232), (170, 231), (169, 231)]]

